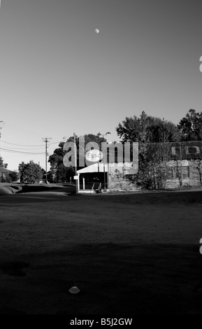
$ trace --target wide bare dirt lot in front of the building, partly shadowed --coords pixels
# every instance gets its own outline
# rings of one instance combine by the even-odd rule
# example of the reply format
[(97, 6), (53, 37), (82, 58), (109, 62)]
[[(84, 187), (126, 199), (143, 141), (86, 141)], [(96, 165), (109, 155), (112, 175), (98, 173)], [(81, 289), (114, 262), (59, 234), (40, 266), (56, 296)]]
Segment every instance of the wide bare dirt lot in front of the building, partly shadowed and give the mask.
[(201, 191), (1, 195), (0, 314), (202, 314), (201, 214)]

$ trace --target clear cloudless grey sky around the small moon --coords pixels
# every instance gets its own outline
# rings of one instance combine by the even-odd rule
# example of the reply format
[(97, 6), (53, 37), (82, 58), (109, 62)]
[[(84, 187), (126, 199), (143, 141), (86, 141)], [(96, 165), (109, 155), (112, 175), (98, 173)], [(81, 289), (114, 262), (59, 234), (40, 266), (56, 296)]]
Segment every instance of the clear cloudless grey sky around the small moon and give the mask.
[(201, 0), (1, 0), (8, 169), (45, 168), (45, 137), (52, 154), (73, 132), (119, 141), (118, 123), (142, 111), (173, 123), (201, 112), (201, 14)]

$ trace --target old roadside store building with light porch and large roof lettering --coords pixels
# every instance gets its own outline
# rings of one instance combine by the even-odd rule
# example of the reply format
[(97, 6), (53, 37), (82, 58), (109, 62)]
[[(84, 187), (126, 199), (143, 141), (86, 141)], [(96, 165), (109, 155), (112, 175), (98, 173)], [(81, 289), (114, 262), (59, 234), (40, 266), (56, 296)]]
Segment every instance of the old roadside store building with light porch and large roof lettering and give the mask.
[[(159, 146), (160, 144), (150, 144), (150, 151), (154, 151)], [(178, 188), (180, 179), (182, 179), (182, 186), (202, 186), (202, 142), (168, 143), (167, 146), (171, 160), (166, 162), (168, 179), (165, 187)], [(104, 172), (106, 188), (109, 190), (137, 188), (135, 180), (131, 179), (129, 167), (124, 165), (124, 162), (108, 162), (105, 164), (105, 170), (103, 162), (79, 169), (78, 188), (80, 190), (92, 189), (95, 177), (99, 178), (103, 188)]]

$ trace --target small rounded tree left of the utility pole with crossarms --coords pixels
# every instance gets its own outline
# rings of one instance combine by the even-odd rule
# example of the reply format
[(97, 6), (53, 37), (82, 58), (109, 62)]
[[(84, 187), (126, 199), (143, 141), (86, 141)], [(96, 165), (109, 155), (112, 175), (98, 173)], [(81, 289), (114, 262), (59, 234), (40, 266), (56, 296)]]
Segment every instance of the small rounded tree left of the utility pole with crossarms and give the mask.
[(22, 162), (19, 165), (20, 181), (27, 181), (28, 183), (39, 183), (43, 178), (43, 169), (30, 160), (29, 163), (25, 164)]

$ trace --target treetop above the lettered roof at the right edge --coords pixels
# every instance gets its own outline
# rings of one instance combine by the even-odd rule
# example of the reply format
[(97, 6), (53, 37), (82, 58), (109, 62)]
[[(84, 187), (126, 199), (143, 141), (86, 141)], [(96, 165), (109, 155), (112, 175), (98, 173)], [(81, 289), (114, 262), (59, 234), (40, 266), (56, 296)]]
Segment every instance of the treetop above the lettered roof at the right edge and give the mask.
[(190, 109), (185, 118), (180, 120), (178, 130), (182, 132), (182, 141), (202, 140), (202, 112)]

